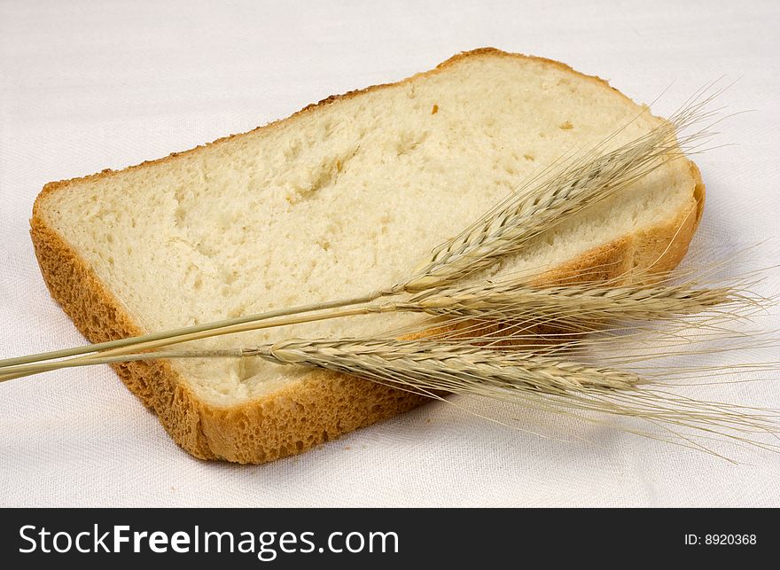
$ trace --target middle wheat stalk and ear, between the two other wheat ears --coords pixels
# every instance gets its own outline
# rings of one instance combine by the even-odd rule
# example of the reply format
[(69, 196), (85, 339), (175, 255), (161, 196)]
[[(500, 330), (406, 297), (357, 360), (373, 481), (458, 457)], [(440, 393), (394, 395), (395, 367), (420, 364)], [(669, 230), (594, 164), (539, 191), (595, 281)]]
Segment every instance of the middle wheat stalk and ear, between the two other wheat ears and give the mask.
[[(462, 339), (479, 334), (487, 341), (487, 323), (501, 325), (497, 339), (513, 346), (522, 346), (522, 341), (537, 346), (540, 340), (559, 340), (561, 332), (604, 332), (604, 324), (611, 320), (672, 319), (675, 316), (690, 316), (722, 306), (725, 314), (738, 314), (739, 304), (752, 306), (758, 301), (740, 292), (736, 287), (698, 288), (688, 285), (620, 285), (615, 287), (598, 283), (577, 285), (527, 285), (523, 280), (500, 283), (483, 282), (480, 285), (465, 285), (433, 289), (418, 293), (406, 301), (374, 301), (363, 307), (333, 309), (330, 312), (284, 317), (281, 320), (266, 320), (258, 323), (231, 324), (214, 327), (206, 331), (191, 332), (171, 338), (134, 343), (128, 347), (100, 351), (95, 355), (82, 356), (75, 364), (87, 365), (97, 362), (96, 357), (111, 357), (119, 362), (122, 355), (191, 340), (246, 332), (281, 324), (300, 324), (334, 317), (370, 315), (380, 313), (411, 312), (430, 316), (447, 316), (445, 331), (454, 328), (455, 338)], [(555, 332), (540, 334), (540, 325), (553, 325)], [(439, 324), (441, 328), (441, 324)], [(428, 323), (416, 325), (408, 330), (399, 330), (397, 336), (418, 335), (431, 332)], [(440, 339), (441, 340), (441, 335)], [(0, 381), (20, 378), (44, 371), (57, 370), (64, 366), (61, 360), (43, 363), (6, 364), (0, 367)]]

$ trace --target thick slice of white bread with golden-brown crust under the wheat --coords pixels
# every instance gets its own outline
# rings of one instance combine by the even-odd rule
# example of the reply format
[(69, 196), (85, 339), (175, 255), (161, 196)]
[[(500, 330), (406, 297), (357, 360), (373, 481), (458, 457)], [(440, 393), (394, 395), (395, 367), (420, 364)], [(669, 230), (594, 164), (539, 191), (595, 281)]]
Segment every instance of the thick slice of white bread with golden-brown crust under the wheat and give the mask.
[[(394, 285), (565, 152), (621, 127), (612, 145), (625, 143), (661, 121), (563, 64), (471, 51), (191, 151), (49, 183), (31, 233), (52, 296), (90, 340), (161, 331)], [(703, 200), (693, 163), (669, 162), (500, 270), (670, 269)], [(198, 346), (375, 334), (416, 318), (339, 319)], [(300, 453), (423, 402), (254, 360), (115, 369), (184, 449), (239, 463)]]

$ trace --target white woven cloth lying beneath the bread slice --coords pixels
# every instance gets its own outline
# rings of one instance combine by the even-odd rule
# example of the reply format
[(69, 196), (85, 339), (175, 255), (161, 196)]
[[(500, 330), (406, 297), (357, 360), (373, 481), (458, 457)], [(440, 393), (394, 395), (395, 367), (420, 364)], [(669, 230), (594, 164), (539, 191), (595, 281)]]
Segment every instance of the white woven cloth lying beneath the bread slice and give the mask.
[[(7, 2), (0, 4), (0, 355), (76, 344), (27, 235), (51, 180), (122, 168), (401, 79), (493, 45), (608, 78), (668, 113), (723, 74), (753, 110), (699, 157), (708, 186), (691, 256), (770, 239), (780, 259), (780, 4), (767, 2)], [(764, 292), (780, 290), (768, 271)], [(780, 328), (764, 321), (763, 326)], [(761, 355), (766, 357), (765, 353)], [(757, 355), (743, 355), (750, 360)], [(780, 380), (776, 378), (776, 380)], [(717, 397), (780, 408), (773, 382)], [(462, 402), (462, 401), (459, 401)], [(780, 456), (743, 463), (492, 403), (436, 403), (269, 465), (196, 460), (107, 368), (0, 385), (0, 504), (780, 506)], [(574, 439), (583, 437), (590, 442)]]

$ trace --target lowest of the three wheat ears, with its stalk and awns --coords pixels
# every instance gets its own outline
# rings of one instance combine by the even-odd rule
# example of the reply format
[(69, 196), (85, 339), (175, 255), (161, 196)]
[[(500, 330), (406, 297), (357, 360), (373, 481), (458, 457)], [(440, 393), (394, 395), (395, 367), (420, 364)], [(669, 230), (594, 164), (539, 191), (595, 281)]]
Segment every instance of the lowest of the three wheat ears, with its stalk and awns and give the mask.
[[(652, 383), (633, 371), (555, 355), (494, 350), (468, 342), (448, 345), (426, 339), (285, 340), (260, 347), (105, 356), (87, 364), (220, 357), (261, 357), (271, 363), (339, 371), (448, 403), (452, 402), (444, 400), (442, 394), (471, 394), (533, 410), (576, 414), (577, 418), (597, 424), (607, 423), (601, 418), (604, 414), (638, 419), (659, 427), (661, 432), (617, 427), (719, 457), (722, 456), (698, 440), (727, 437), (776, 450), (754, 437), (777, 433), (774, 410), (697, 401), (674, 394), (667, 385)], [(597, 416), (591, 417), (588, 412)]]

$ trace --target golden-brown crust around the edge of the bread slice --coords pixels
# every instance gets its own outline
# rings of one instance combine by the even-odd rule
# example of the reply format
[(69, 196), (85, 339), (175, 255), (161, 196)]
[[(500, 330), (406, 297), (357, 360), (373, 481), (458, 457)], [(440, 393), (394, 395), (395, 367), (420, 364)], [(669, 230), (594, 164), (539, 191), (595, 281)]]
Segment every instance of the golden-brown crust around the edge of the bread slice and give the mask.
[[(276, 129), (284, 121), (312, 113), (317, 107), (329, 105), (339, 98), (351, 98), (367, 91), (410, 82), (419, 75), (441, 73), (442, 69), (460, 59), (486, 55), (534, 59), (614, 90), (604, 80), (580, 74), (557, 61), (482, 48), (460, 53), (435, 69), (413, 75), (402, 82), (375, 85), (325, 98), (291, 117), (258, 129)], [(189, 151), (174, 152), (168, 157), (146, 161), (130, 169), (172, 160), (179, 154), (201, 152), (207, 146), (222, 144), (235, 136)], [(581, 275), (584, 269), (594, 268), (599, 268), (598, 276), (604, 278), (619, 277), (630, 269), (651, 268), (659, 272), (673, 269), (687, 252), (704, 207), (704, 184), (696, 165), (690, 161), (689, 165), (695, 191), (690, 204), (673, 219), (582, 254), (547, 274), (546, 279), (575, 277)], [(30, 220), (35, 256), (51, 296), (91, 342), (136, 336), (143, 331), (74, 248), (46, 222), (42, 204), (49, 193), (64, 190), (72, 183), (115, 174), (113, 170), (104, 170), (91, 176), (46, 184), (35, 200)], [(592, 277), (592, 271), (589, 275)], [(116, 363), (113, 368), (141, 402), (157, 414), (160, 423), (183, 449), (201, 459), (224, 459), (242, 464), (259, 464), (301, 453), (318, 443), (429, 401), (416, 394), (338, 372), (312, 371), (273, 394), (238, 406), (222, 407), (199, 400), (168, 361)]]

